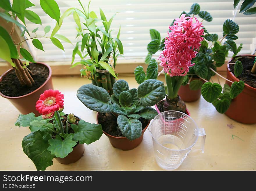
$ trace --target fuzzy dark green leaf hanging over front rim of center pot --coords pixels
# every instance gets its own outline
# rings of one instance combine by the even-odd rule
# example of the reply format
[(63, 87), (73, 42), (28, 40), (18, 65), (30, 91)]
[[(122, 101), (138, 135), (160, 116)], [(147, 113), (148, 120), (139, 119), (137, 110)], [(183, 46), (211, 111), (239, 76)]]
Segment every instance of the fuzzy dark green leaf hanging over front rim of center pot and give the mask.
[(129, 140), (137, 139), (142, 133), (142, 124), (138, 119), (127, 119), (124, 115), (119, 115), (117, 124), (122, 134)]

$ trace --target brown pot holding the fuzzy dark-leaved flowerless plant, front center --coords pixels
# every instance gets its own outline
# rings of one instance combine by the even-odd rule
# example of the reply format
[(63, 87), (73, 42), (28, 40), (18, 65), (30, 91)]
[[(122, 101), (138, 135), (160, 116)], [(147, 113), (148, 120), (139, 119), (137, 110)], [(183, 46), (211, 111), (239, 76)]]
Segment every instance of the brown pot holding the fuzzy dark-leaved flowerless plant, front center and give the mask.
[[(97, 117), (96, 117), (96, 121), (97, 124), (98, 123), (98, 112), (97, 112)], [(134, 140), (129, 140), (126, 137), (115, 137), (112, 135), (109, 135), (108, 133), (106, 133), (105, 131), (103, 131), (103, 133), (105, 135), (107, 135), (107, 137), (109, 138), (110, 143), (112, 144), (113, 147), (117, 148), (117, 149), (122, 149), (123, 151), (127, 151), (127, 150), (131, 150), (136, 148), (139, 144), (141, 144), (142, 140), (143, 140), (143, 134), (146, 131), (148, 125), (150, 124), (150, 120), (147, 124), (147, 126), (142, 130), (142, 134), (139, 138), (134, 139)]]

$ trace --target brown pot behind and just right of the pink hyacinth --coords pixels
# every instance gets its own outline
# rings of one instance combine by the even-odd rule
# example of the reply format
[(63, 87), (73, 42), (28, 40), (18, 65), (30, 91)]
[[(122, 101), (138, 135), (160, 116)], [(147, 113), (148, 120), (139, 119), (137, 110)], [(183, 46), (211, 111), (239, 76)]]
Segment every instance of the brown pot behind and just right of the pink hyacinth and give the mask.
[[(199, 78), (200, 79), (200, 78)], [(193, 80), (198, 80), (198, 78), (192, 78), (192, 81)], [(205, 81), (201, 80), (203, 83)], [(178, 95), (179, 97), (181, 97), (181, 99), (183, 101), (186, 101), (186, 102), (192, 102), (192, 101), (196, 101), (200, 98), (201, 96), (201, 88), (198, 89), (198, 90), (191, 90), (189, 88), (189, 85), (182, 85), (180, 86), (179, 88), (179, 91), (178, 91)]]

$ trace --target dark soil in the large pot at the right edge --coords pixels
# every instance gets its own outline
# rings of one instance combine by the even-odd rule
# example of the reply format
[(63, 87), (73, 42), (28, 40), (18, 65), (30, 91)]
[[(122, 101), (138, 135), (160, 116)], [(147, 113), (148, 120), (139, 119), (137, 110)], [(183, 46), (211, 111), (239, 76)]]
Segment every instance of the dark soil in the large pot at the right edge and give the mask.
[[(243, 64), (243, 72), (237, 78), (239, 80), (244, 81), (244, 83), (250, 85), (251, 87), (256, 88), (256, 74), (251, 73), (255, 56), (241, 57), (238, 60), (241, 61)], [(233, 63), (233, 61), (231, 61), (231, 63)], [(230, 64), (229, 68), (230, 68), (230, 72), (234, 74), (235, 73), (234, 64)]]

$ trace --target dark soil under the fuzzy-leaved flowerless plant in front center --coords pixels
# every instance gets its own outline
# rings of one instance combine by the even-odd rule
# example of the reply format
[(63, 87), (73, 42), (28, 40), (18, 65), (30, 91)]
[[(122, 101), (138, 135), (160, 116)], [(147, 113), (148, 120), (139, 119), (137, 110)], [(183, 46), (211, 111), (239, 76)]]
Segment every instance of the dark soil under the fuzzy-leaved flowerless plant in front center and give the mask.
[[(147, 126), (149, 120), (144, 118), (138, 119), (142, 124), (142, 130)], [(117, 130), (118, 124), (117, 119), (111, 113), (99, 113), (98, 114), (98, 123), (101, 124), (102, 130), (108, 133), (109, 135), (115, 137), (124, 137), (120, 129)]]

